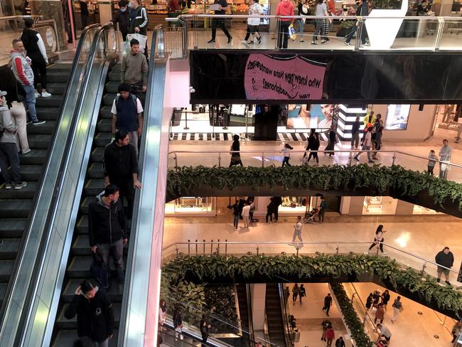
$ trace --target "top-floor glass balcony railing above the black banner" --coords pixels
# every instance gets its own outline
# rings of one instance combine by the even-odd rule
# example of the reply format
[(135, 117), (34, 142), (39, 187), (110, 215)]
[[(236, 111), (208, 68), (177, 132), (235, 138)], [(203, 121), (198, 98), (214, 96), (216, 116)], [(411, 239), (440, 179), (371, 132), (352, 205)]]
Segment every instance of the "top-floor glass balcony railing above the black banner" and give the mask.
[[(259, 32), (262, 43), (241, 43), (247, 30), (247, 18), (260, 18)], [(312, 45), (314, 24), (316, 20), (327, 19), (331, 21), (331, 30), (328, 33), (330, 41)], [(249, 15), (211, 15), (211, 14), (185, 14), (176, 18), (166, 18), (168, 28), (166, 32), (167, 51), (173, 58), (187, 57), (187, 50), (213, 50), (213, 49), (247, 49), (247, 50), (399, 50), (399, 51), (436, 51), (436, 50), (462, 50), (462, 41), (458, 37), (462, 31), (462, 18), (452, 16), (249, 16)], [(278, 38), (278, 28), (281, 21), (293, 20), (297, 31), (298, 23), (305, 21), (303, 31), (297, 33), (296, 40), (289, 38), (287, 48), (281, 47)], [(216, 43), (208, 43), (211, 38), (211, 25), (213, 21), (224, 22), (225, 27), (233, 37), (232, 43), (217, 27)], [(308, 31), (304, 29), (308, 28)], [(355, 36), (360, 38), (363, 31), (369, 41), (365, 46), (359, 39), (345, 45), (345, 36), (353, 28), (357, 28)], [(383, 30), (387, 28), (387, 30)], [(393, 30), (394, 28), (394, 30)], [(335, 29), (335, 32), (333, 31)], [(319, 35), (321, 36), (321, 35)], [(300, 42), (303, 38), (304, 42)], [(181, 45), (180, 45), (181, 43)], [(180, 50), (181, 46), (181, 50)]]

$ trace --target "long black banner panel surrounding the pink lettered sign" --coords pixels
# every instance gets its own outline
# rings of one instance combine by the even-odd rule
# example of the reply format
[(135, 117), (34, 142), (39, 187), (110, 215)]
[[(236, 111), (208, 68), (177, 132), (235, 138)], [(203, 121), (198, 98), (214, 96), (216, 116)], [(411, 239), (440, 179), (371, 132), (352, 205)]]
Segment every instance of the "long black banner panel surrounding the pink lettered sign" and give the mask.
[[(285, 100), (247, 99), (245, 70), (250, 53), (256, 52), (191, 51), (190, 85), (195, 89), (190, 95), (191, 103), (306, 103), (306, 98), (296, 97), (292, 100), (286, 100), (286, 97)], [(309, 100), (312, 103), (462, 103), (462, 52), (365, 50), (266, 54), (279, 59), (299, 56), (314, 64), (326, 66), (322, 99)], [(306, 71), (306, 75), (310, 73)]]

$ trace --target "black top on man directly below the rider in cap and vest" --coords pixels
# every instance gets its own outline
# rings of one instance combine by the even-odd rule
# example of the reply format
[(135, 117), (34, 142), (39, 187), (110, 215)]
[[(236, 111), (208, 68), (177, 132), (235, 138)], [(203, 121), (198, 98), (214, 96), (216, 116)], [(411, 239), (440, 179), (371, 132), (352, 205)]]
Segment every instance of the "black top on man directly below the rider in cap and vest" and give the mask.
[(138, 159), (136, 157), (135, 146), (133, 144), (117, 146), (114, 140), (104, 149), (102, 167), (104, 176), (116, 179), (131, 179), (132, 173), (138, 173)]

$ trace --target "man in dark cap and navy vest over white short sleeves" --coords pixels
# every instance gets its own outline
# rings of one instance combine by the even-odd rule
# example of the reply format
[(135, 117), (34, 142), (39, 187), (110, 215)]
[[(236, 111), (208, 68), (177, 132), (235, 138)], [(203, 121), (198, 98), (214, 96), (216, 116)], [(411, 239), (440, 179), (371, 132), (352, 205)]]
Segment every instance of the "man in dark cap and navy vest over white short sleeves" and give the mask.
[(143, 107), (136, 95), (131, 94), (131, 86), (127, 83), (119, 85), (119, 95), (112, 102), (112, 134), (116, 130), (129, 133), (130, 143), (135, 146), (138, 154), (138, 137), (143, 127)]

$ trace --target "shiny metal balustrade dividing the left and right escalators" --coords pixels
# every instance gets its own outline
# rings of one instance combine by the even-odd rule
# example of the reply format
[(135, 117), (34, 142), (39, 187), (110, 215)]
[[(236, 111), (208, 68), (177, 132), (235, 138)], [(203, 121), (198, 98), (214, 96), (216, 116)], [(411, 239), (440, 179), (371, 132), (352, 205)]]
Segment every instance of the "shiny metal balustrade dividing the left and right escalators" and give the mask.
[(53, 168), (58, 173), (58, 179), (52, 189), (53, 201), (48, 213), (44, 213), (46, 223), (40, 237), (42, 247), (38, 250), (38, 260), (31, 266), (33, 278), (26, 293), (28, 300), (24, 305), (15, 345), (50, 345), (75, 213), (80, 203), (79, 192), (83, 188), (92, 144), (90, 140), (99, 112), (95, 99), (102, 97), (110, 58), (116, 52), (116, 41), (112, 24), (108, 24), (95, 26), (92, 36), (81, 43), (85, 47), (85, 58), (80, 57), (82, 74), (76, 77), (80, 87), (77, 92), (68, 93), (72, 95), (72, 107), (65, 109), (68, 112), (63, 111), (67, 122), (62, 127), (68, 129), (69, 134), (60, 144), (59, 151), (63, 151), (65, 156)]

